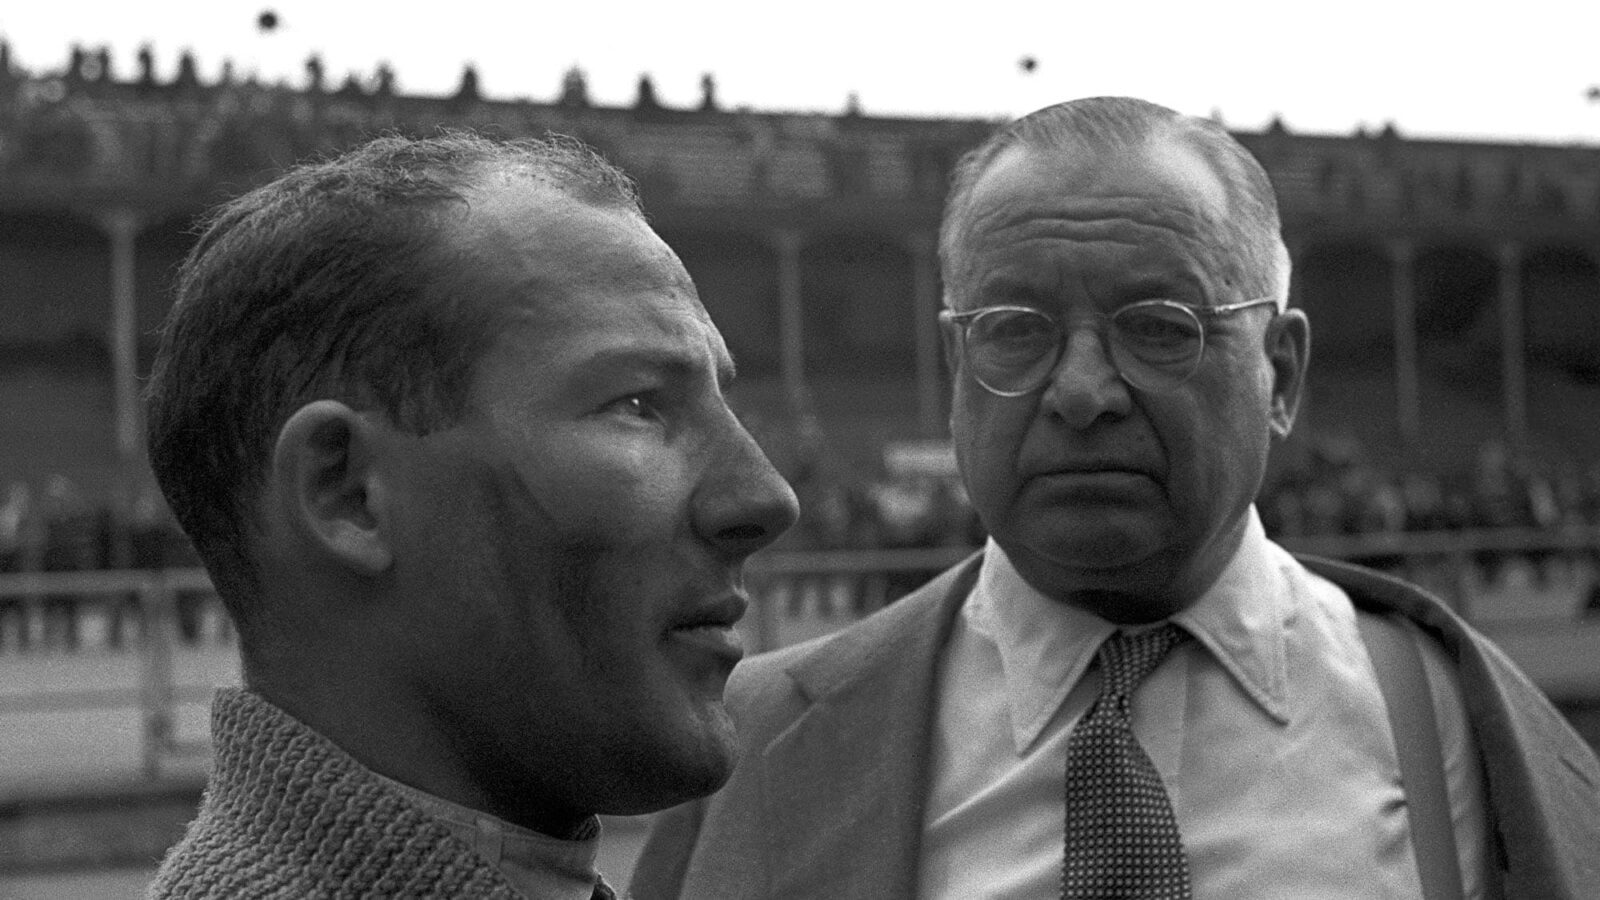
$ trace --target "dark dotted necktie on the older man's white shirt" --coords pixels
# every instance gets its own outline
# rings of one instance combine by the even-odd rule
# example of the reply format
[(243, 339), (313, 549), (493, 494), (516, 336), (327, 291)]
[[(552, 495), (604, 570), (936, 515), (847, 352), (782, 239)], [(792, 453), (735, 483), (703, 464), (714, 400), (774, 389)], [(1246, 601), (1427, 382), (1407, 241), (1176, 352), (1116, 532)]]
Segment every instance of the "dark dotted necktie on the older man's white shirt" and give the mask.
[(1190, 900), (1173, 801), (1133, 737), (1128, 695), (1189, 634), (1176, 625), (1101, 644), (1101, 693), (1067, 740), (1066, 900)]

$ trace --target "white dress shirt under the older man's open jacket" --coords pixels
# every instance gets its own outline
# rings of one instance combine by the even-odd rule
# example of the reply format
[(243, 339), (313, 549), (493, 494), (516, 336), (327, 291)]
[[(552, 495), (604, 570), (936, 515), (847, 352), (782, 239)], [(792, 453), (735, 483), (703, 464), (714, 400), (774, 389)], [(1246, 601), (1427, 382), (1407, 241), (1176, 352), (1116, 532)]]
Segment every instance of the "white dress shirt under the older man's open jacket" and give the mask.
[[(1400, 764), (1349, 597), (1267, 540), (1173, 617), (1179, 645), (1133, 693), (1208, 898), (1421, 897)], [(941, 665), (918, 897), (1059, 897), (1067, 738), (1115, 626), (1051, 601), (989, 541)], [(1434, 692), (1462, 884), (1482, 897), (1483, 785), (1443, 650)]]

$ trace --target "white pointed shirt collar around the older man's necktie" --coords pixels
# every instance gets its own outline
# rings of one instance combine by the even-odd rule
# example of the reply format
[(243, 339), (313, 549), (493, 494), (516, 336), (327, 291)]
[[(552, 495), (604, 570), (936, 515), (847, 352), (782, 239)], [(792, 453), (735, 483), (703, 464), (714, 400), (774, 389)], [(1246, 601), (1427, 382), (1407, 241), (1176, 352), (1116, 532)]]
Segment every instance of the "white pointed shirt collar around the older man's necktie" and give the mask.
[[(1200, 599), (1173, 617), (1278, 722), (1288, 721), (1283, 597), (1290, 586), (1251, 508), (1234, 557)], [(968, 628), (1000, 650), (1011, 737), (1021, 754), (1045, 732), (1117, 626), (1053, 601), (1022, 580), (994, 541), (962, 607)]]

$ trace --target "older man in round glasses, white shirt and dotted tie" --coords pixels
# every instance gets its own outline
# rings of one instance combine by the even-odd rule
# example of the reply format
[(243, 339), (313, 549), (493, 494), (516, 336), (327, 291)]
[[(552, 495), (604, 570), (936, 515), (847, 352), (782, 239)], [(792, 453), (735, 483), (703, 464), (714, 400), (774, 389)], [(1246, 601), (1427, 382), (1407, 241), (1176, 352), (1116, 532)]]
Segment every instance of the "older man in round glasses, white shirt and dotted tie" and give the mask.
[(1261, 165), (1123, 98), (957, 170), (950, 431), (990, 540), (730, 682), (656, 897), (1594, 897), (1600, 764), (1435, 597), (1253, 506), (1310, 325)]

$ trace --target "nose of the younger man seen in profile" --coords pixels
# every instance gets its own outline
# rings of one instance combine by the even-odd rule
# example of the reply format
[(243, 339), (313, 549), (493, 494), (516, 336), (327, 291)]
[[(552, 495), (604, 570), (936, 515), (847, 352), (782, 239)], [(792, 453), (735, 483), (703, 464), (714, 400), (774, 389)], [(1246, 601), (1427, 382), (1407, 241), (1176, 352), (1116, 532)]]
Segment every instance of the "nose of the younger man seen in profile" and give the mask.
[(762, 549), (800, 517), (794, 488), (738, 420), (728, 423), (720, 452), (712, 455), (701, 479), (694, 527), (728, 557), (742, 559)]

